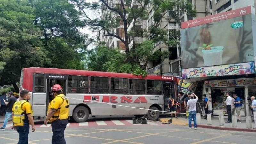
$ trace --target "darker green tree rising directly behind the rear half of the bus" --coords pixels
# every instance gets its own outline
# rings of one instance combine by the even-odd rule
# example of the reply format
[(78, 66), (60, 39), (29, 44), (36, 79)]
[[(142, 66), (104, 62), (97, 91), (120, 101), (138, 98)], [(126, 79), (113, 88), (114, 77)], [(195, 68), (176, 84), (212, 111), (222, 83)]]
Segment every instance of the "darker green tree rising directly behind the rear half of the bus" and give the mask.
[(51, 59), (50, 68), (84, 69), (80, 62), (92, 41), (79, 28), (84, 24), (79, 12), (68, 0), (33, 0), (35, 24), (43, 31), (42, 46)]

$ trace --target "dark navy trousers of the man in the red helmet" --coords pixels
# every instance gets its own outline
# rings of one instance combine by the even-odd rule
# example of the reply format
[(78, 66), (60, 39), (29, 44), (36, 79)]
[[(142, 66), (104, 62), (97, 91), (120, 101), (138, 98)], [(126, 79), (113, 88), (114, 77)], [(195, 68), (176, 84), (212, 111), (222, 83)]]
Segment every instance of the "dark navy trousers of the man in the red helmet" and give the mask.
[(55, 120), (52, 122), (52, 144), (66, 144), (64, 130), (68, 124), (68, 119)]

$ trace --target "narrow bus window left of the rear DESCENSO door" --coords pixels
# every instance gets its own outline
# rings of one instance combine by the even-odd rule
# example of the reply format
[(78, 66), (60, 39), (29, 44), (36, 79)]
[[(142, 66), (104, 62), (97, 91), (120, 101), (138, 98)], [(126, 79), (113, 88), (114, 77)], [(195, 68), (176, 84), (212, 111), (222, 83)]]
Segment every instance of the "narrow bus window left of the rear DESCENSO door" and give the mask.
[(45, 92), (44, 74), (35, 74), (34, 92)]

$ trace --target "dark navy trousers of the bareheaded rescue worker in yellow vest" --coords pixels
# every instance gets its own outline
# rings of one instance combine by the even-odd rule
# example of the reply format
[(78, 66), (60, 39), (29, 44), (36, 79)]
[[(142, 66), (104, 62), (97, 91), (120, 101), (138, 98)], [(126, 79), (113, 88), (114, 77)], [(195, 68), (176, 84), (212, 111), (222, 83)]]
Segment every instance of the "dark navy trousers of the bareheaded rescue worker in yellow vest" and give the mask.
[(25, 123), (24, 126), (16, 126), (19, 133), (18, 144), (28, 144), (29, 124)]

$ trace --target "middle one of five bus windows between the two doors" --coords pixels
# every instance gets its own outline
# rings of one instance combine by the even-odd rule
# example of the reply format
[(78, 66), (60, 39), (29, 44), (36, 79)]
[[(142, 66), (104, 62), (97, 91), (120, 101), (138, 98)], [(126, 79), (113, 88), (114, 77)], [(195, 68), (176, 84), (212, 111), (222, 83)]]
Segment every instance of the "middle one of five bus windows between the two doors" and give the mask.
[(125, 78), (111, 78), (112, 94), (128, 94), (128, 80)]

